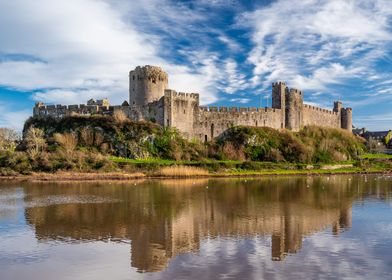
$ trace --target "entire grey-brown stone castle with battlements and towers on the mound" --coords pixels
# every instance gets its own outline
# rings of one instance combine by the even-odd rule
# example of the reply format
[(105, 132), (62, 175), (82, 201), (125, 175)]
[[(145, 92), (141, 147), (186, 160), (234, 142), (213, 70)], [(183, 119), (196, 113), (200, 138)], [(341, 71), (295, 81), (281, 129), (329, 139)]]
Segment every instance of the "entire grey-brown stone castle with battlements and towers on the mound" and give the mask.
[(352, 109), (334, 102), (333, 110), (304, 104), (303, 92), (284, 82), (272, 84), (272, 108), (202, 107), (199, 94), (169, 89), (168, 75), (151, 65), (129, 73), (129, 102), (111, 106), (107, 99), (89, 100), (86, 105), (36, 103), (34, 116), (61, 118), (71, 114), (113, 114), (124, 112), (135, 121), (152, 121), (175, 127), (187, 138), (209, 141), (233, 125), (272, 127), (298, 131), (306, 125), (352, 130)]

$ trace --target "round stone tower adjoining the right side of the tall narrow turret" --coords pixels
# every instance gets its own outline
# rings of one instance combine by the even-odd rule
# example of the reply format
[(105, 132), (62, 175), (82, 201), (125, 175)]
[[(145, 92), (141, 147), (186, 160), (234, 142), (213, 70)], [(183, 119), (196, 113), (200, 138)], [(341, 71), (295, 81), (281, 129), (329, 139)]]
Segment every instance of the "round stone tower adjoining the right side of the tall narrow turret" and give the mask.
[(303, 94), (298, 89), (291, 88), (286, 92), (286, 128), (298, 131), (302, 126)]

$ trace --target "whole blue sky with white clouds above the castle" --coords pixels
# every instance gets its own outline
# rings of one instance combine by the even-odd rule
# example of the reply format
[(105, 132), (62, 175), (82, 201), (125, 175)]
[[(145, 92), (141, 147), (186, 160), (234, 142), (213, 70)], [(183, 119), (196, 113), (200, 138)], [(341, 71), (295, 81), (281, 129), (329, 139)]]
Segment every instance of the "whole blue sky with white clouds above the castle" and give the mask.
[(0, 127), (21, 129), (37, 101), (121, 104), (147, 64), (203, 105), (271, 106), (286, 81), (392, 129), (390, 0), (0, 0)]

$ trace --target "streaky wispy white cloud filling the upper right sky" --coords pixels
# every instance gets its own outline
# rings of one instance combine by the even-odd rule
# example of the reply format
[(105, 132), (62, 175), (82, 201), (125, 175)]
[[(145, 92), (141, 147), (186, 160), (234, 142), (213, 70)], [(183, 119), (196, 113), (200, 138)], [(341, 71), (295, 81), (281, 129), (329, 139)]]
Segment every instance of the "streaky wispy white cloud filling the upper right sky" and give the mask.
[(384, 0), (281, 0), (244, 13), (251, 28), (252, 82), (285, 79), (302, 89), (326, 90), (349, 78), (367, 79), (392, 41), (392, 8)]

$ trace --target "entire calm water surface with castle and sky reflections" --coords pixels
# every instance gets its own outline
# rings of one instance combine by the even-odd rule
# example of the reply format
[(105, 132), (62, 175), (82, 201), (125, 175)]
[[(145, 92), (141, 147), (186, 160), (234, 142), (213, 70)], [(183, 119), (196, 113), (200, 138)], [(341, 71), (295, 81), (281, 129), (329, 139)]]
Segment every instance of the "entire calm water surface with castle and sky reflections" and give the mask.
[(392, 279), (392, 177), (0, 183), (0, 279)]

